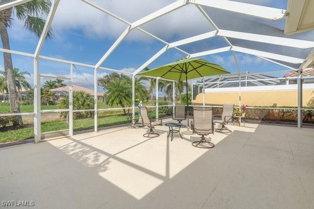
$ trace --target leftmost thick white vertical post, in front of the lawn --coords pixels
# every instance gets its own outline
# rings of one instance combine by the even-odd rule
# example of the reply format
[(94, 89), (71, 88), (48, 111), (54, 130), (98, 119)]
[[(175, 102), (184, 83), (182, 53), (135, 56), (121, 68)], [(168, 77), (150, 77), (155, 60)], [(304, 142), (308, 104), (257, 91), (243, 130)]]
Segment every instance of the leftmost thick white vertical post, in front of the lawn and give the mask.
[(41, 140), (41, 114), (40, 114), (40, 76), (38, 59), (34, 59), (34, 135), (35, 143)]

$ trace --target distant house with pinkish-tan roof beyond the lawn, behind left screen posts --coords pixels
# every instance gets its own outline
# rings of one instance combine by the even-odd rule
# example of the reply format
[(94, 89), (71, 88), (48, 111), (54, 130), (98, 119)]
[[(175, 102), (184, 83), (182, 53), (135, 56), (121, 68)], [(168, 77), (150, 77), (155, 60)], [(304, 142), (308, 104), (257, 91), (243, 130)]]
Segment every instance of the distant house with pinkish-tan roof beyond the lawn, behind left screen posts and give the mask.
[[(63, 86), (63, 87), (59, 87), (59, 88), (53, 88), (50, 89), (51, 91), (53, 91), (55, 93), (55, 95), (57, 95), (59, 98), (62, 97), (68, 97), (69, 95), (69, 86)], [(73, 85), (73, 92), (77, 92), (77, 91), (83, 91), (87, 94), (90, 94), (91, 96), (94, 97), (94, 90), (88, 89), (88, 88), (84, 88), (82, 86), (78, 86), (78, 85)], [(103, 103), (105, 102), (105, 93), (101, 93), (98, 92), (97, 93), (97, 102), (99, 103)]]

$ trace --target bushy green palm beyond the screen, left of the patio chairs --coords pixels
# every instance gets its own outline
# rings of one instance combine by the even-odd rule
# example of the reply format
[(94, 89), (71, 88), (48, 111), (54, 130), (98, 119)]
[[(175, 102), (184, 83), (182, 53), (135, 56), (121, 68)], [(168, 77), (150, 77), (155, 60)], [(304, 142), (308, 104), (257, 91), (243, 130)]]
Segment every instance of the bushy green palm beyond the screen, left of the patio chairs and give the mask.
[[(106, 103), (109, 105), (120, 105), (121, 107), (131, 106), (132, 104), (132, 88), (131, 79), (115, 79), (107, 86)], [(131, 90), (131, 91), (130, 91)], [(123, 113), (126, 110), (123, 109)]]

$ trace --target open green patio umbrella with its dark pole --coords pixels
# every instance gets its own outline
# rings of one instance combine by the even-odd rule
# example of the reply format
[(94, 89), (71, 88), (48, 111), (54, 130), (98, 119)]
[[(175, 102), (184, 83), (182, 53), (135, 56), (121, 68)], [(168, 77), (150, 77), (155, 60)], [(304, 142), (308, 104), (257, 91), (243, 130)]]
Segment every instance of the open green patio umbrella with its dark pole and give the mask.
[[(167, 78), (176, 81), (186, 82), (186, 98), (188, 98), (187, 91), (187, 80), (193, 78), (201, 78), (206, 76), (228, 74), (220, 65), (211, 63), (202, 58), (183, 58), (175, 62), (154, 68), (152, 70), (139, 73), (139, 76), (151, 76), (151, 77), (160, 77)], [(188, 103), (186, 104), (188, 109)], [(187, 111), (187, 127), (189, 126), (188, 122), (188, 111)]]

